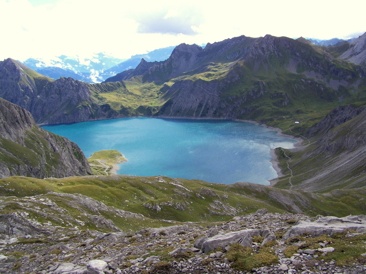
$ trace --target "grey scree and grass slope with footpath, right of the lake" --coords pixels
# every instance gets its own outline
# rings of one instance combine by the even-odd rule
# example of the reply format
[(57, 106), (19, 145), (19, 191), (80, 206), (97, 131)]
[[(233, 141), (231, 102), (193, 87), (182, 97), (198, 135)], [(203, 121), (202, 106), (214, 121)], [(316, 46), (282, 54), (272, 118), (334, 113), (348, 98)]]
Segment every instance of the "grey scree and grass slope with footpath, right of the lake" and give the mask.
[(276, 149), (284, 176), (275, 186), (320, 193), (365, 186), (365, 130), (365, 103), (336, 108), (307, 130), (305, 149)]

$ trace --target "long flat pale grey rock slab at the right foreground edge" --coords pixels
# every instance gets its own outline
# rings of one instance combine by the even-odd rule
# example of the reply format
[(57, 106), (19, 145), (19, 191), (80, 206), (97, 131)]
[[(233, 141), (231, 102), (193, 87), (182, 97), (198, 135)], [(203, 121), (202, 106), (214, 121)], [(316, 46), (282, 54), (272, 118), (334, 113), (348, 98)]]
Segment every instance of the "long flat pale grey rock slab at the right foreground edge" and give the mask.
[(323, 234), (332, 236), (334, 233), (343, 233), (346, 229), (365, 232), (366, 216), (349, 215), (343, 218), (327, 216), (314, 222), (311, 222), (310, 220), (297, 221), (295, 225), (285, 233), (281, 241), (300, 236), (303, 233), (311, 233), (311, 236), (313, 237)]

